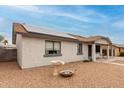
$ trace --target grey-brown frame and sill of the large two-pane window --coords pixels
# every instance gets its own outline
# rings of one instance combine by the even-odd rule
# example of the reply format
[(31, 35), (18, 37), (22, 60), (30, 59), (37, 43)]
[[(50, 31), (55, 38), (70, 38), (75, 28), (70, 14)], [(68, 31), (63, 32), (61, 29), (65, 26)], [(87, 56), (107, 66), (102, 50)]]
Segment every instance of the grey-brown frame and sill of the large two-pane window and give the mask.
[[(47, 42), (52, 42), (52, 44), (53, 44), (53, 51), (55, 50), (54, 49), (54, 43), (55, 42), (57, 42), (57, 43), (59, 43), (59, 53), (58, 54), (48, 54), (47, 53), (47, 49), (46, 49), (46, 43)], [(45, 55), (44, 55), (44, 57), (56, 57), (56, 56), (62, 56), (62, 54), (61, 54), (61, 41), (52, 41), (52, 40), (45, 40)]]

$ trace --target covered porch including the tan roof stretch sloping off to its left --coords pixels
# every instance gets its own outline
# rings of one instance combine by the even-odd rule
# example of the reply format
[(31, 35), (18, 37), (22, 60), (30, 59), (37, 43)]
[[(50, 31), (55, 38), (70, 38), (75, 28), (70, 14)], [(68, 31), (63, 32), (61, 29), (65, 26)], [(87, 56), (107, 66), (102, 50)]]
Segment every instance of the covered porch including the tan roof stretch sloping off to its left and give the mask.
[[(108, 37), (104, 36), (89, 36), (82, 37), (72, 35), (80, 42), (86, 44), (87, 59), (96, 62), (96, 59), (109, 59), (114, 56), (115, 49)], [(88, 50), (88, 51), (87, 51)]]

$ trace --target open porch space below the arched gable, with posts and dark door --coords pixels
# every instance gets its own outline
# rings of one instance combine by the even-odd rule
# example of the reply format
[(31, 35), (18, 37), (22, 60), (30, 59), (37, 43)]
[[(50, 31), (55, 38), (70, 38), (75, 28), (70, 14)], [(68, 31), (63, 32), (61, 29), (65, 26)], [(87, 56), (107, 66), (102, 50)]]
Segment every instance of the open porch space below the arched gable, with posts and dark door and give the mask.
[(112, 45), (91, 44), (88, 45), (88, 59), (96, 61), (97, 59), (109, 59), (114, 56)]

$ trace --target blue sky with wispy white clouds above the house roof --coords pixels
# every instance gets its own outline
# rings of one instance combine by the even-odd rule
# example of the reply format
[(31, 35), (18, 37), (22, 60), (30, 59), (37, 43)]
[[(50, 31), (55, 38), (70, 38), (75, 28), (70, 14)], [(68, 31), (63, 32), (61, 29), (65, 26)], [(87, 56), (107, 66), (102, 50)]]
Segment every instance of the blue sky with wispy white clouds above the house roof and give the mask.
[(48, 27), (83, 36), (103, 35), (124, 44), (124, 6), (0, 6), (0, 34), (10, 42), (12, 23)]

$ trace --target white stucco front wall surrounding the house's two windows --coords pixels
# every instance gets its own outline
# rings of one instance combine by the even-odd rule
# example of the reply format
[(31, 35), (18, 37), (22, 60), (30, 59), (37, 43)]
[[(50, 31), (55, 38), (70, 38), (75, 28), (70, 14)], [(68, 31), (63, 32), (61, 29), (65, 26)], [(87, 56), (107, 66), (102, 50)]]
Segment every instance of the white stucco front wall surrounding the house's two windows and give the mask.
[[(56, 41), (56, 40), (55, 40)], [(58, 57), (44, 57), (45, 54), (45, 40), (39, 38), (22, 38), (22, 46), (18, 47), (18, 59), (22, 68), (38, 67), (51, 64), (51, 60), (63, 60), (65, 62), (80, 61), (88, 59), (87, 45), (83, 44), (83, 55), (77, 55), (77, 43), (61, 41), (62, 56)], [(19, 46), (19, 45), (18, 45)], [(20, 55), (21, 54), (21, 55)], [(21, 57), (22, 56), (22, 57)], [(20, 63), (21, 62), (21, 63)]]

